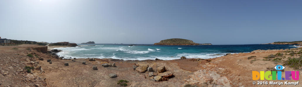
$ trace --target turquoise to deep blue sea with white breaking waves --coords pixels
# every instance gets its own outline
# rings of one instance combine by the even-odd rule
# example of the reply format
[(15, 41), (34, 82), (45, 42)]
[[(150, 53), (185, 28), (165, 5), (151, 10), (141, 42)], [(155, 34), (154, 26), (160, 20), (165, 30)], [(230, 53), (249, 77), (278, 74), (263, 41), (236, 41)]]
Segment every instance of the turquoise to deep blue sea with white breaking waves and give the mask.
[[(248, 53), (253, 50), (273, 50), (296, 48), (294, 45), (271, 45), (271, 44), (249, 44), (249, 45), (200, 45), (200, 46), (170, 46), (138, 44), (78, 44), (81, 47), (55, 48), (63, 50), (59, 56), (65, 58), (114, 58), (123, 60), (161, 60), (187, 58), (215, 58), (226, 53)], [(96, 46), (88, 46), (96, 45)], [(173, 57), (171, 57), (173, 56)]]

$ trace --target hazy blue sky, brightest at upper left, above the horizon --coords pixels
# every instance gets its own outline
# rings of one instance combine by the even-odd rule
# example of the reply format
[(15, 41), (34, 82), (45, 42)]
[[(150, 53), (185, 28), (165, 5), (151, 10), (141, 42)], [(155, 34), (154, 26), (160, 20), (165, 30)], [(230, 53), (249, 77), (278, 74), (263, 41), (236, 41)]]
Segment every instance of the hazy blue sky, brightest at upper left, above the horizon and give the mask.
[(0, 37), (153, 44), (297, 41), (301, 0), (1, 0)]

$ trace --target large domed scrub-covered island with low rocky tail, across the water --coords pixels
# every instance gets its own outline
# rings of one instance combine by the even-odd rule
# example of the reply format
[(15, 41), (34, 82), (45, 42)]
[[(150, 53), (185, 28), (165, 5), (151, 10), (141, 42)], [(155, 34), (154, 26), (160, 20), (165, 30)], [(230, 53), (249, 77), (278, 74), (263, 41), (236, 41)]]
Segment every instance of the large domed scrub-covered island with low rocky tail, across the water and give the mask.
[(154, 43), (154, 45), (212, 45), (211, 43), (194, 43), (192, 40), (172, 38), (161, 40), (159, 43)]

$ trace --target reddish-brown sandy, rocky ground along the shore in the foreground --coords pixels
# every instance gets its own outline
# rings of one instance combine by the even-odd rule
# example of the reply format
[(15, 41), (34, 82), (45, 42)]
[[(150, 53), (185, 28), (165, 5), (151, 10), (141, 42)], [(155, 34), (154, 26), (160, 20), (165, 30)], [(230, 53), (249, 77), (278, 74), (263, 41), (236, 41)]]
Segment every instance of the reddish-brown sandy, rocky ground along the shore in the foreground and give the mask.
[[(284, 53), (288, 50), (258, 50), (252, 53), (239, 53), (222, 56), (213, 59), (177, 59), (177, 60), (113, 60), (113, 59), (88, 59), (59, 60), (49, 54), (40, 53), (31, 47), (38, 45), (0, 46), (0, 87), (119, 87), (119, 80), (129, 81), (128, 87), (183, 87), (186, 84), (197, 85), (198, 87), (275, 87), (277, 85), (253, 85), (252, 71), (269, 71), (282, 65), (288, 57), (299, 57), (285, 55), (281, 62), (266, 61), (270, 54)], [(55, 48), (55, 47), (53, 47)], [(28, 50), (31, 49), (31, 50)], [(300, 49), (293, 50), (299, 51)], [(28, 57), (27, 54), (37, 55)], [(287, 53), (288, 54), (288, 53)], [(256, 56), (248, 60), (249, 56)], [(47, 62), (52, 61), (52, 64)], [(33, 61), (34, 63), (31, 63)], [(82, 64), (85, 61), (86, 65)], [(64, 66), (69, 63), (69, 66)], [(116, 63), (117, 67), (103, 67), (103, 63)], [(133, 65), (149, 65), (153, 67), (154, 75), (158, 74), (157, 68), (165, 66), (167, 71), (173, 73), (173, 77), (168, 81), (154, 82), (145, 73), (133, 69)], [(25, 66), (35, 67), (31, 73), (27, 73)], [(41, 69), (40, 70), (40, 67)], [(97, 66), (98, 70), (93, 70), (92, 66)], [(285, 71), (301, 71), (285, 66)], [(37, 69), (38, 68), (38, 69)], [(41, 73), (42, 72), (42, 73)], [(117, 74), (116, 78), (110, 78), (109, 73)], [(284, 76), (284, 72), (282, 72)], [(299, 76), (301, 78), (301, 74)], [(268, 81), (268, 80), (255, 80)], [(273, 80), (274, 82), (280, 80)], [(284, 80), (285, 81), (285, 80)], [(281, 81), (281, 82), (284, 82)], [(301, 82), (301, 79), (298, 81)], [(289, 80), (289, 82), (297, 82)], [(280, 87), (301, 87), (299, 85), (280, 85)]]

